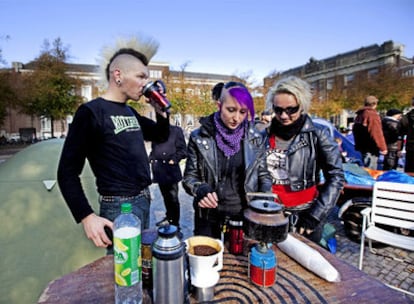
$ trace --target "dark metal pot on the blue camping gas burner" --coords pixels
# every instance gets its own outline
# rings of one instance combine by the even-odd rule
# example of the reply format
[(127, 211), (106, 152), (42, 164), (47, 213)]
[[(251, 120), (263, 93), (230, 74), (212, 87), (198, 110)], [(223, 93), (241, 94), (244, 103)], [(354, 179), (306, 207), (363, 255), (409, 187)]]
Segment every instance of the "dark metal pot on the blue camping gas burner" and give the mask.
[[(263, 193), (260, 196), (269, 194)], [(257, 195), (255, 195), (257, 196)], [(287, 238), (289, 219), (284, 214), (283, 205), (269, 199), (254, 199), (244, 210), (244, 232), (255, 240), (278, 243)]]

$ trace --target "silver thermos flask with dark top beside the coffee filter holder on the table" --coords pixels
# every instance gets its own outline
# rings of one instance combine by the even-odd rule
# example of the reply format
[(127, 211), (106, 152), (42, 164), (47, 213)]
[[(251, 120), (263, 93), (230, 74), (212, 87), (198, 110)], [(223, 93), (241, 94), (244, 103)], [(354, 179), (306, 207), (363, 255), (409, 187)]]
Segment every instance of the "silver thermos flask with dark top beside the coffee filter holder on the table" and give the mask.
[(155, 304), (187, 302), (185, 243), (174, 225), (158, 228), (152, 244), (152, 274)]

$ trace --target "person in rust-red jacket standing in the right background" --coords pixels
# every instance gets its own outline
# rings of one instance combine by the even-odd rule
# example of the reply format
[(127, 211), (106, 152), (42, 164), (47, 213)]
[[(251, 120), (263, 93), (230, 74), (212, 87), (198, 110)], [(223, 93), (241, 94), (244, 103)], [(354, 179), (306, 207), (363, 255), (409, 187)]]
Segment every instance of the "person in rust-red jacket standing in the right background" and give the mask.
[(361, 152), (364, 166), (373, 170), (378, 169), (378, 156), (388, 152), (377, 105), (377, 97), (367, 96), (364, 107), (356, 112), (352, 127), (355, 149)]

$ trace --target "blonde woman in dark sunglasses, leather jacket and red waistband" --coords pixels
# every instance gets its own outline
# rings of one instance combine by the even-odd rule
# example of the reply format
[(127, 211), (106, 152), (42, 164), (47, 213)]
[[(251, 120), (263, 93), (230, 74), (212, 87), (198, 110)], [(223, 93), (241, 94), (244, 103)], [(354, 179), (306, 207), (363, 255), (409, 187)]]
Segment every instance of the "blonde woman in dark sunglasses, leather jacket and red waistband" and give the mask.
[[(341, 194), (344, 172), (329, 127), (308, 114), (310, 85), (295, 76), (280, 79), (266, 97), (274, 117), (269, 127), (267, 167), (272, 191), (290, 214), (290, 229), (319, 243), (323, 226)], [(324, 177), (321, 182), (322, 172)]]

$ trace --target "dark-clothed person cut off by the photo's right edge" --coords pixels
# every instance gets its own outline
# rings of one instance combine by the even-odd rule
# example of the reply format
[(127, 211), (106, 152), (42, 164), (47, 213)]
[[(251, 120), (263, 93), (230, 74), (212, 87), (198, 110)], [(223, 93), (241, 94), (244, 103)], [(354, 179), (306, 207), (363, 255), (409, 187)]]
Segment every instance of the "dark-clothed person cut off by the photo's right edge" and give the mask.
[(404, 171), (414, 173), (414, 97), (411, 99), (411, 110), (402, 116), (400, 123), (400, 147), (404, 143), (402, 139), (405, 138), (405, 166)]

